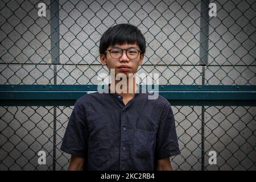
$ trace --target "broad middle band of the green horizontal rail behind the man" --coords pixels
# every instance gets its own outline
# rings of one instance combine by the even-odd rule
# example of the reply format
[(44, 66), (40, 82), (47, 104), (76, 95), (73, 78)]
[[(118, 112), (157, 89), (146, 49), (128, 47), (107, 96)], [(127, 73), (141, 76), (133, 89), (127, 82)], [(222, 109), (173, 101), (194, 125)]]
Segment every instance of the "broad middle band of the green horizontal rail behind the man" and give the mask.
[[(95, 91), (92, 91), (95, 92)], [(77, 100), (82, 90), (1, 90), (0, 100)], [(167, 100), (256, 100), (256, 91), (159, 91)]]

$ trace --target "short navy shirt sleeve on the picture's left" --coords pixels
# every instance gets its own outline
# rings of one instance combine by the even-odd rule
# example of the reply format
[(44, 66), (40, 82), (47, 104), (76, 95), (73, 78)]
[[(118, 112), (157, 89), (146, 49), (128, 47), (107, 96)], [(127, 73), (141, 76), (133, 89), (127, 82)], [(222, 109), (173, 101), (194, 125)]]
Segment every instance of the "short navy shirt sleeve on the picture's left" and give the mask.
[(87, 141), (88, 129), (85, 113), (76, 101), (60, 149), (68, 154), (85, 158)]

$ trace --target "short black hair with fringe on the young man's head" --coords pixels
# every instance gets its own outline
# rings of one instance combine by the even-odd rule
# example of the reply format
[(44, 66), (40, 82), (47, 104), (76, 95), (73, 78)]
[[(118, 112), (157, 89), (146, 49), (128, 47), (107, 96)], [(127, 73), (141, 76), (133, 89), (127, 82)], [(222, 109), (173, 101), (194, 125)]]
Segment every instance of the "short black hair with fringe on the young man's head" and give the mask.
[(109, 46), (126, 43), (137, 44), (142, 54), (146, 52), (146, 40), (142, 32), (132, 24), (122, 23), (110, 27), (104, 32), (100, 40), (100, 54), (105, 54)]

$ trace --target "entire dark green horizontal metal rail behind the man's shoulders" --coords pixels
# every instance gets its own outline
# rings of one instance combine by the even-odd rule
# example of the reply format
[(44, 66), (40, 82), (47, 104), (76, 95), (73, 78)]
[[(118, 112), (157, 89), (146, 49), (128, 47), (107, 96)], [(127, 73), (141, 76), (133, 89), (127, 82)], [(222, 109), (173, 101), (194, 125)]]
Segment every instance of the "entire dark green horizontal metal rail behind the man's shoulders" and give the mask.
[[(145, 88), (152, 90), (151, 85), (147, 86)], [(97, 88), (98, 85), (1, 85), (0, 105), (71, 106), (85, 94), (96, 92)], [(256, 86), (159, 85), (158, 93), (172, 105), (256, 105)]]

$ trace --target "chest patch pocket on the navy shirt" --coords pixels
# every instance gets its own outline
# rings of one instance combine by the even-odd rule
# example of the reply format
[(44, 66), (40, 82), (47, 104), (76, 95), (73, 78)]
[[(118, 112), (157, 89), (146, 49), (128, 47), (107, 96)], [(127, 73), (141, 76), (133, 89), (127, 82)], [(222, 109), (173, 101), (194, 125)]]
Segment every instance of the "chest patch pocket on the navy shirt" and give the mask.
[(133, 153), (135, 158), (154, 159), (156, 132), (135, 129)]

